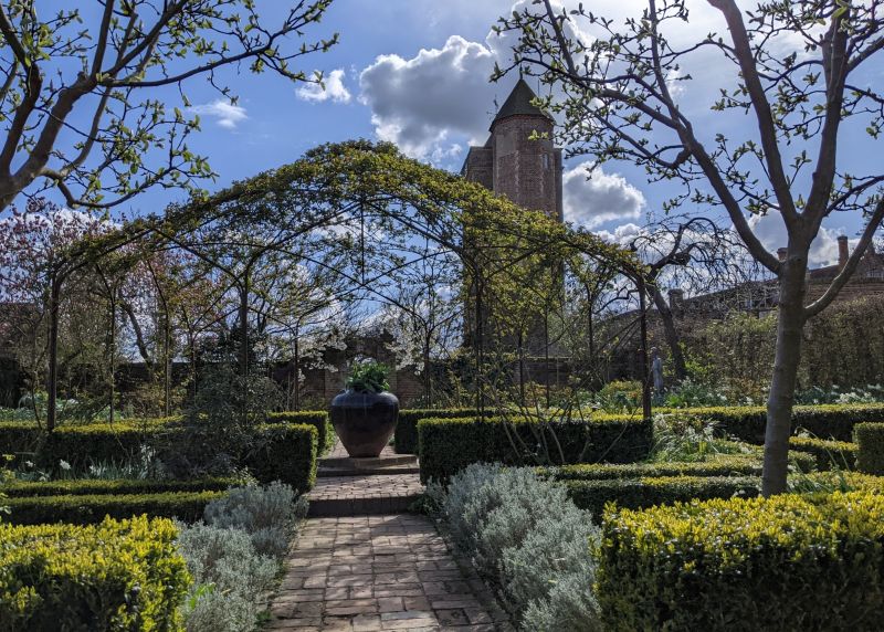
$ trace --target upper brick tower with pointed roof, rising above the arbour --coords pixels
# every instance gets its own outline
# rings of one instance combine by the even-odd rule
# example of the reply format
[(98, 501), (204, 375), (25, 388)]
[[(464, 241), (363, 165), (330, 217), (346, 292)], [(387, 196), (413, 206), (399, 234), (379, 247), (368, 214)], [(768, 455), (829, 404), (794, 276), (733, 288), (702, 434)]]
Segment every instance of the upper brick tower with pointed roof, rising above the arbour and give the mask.
[(561, 221), (561, 149), (552, 145), (552, 118), (532, 104), (535, 98), (519, 77), (491, 124), (488, 140), (470, 147), (461, 173)]

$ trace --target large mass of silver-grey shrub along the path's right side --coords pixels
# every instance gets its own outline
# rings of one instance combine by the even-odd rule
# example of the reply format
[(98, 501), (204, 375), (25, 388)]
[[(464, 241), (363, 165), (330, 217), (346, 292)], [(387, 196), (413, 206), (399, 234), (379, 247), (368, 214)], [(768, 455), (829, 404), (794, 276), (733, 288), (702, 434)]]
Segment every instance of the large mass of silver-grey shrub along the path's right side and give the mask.
[(599, 530), (565, 488), (530, 468), (474, 464), (441, 498), (452, 536), (499, 587), (525, 630), (599, 629)]

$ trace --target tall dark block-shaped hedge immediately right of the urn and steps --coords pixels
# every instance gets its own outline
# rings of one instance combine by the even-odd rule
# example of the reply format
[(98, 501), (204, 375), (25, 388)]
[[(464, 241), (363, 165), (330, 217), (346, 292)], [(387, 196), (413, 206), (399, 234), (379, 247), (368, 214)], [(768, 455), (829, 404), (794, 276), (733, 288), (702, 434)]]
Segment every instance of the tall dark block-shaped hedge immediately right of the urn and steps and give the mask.
[(558, 454), (557, 442), (565, 463), (631, 463), (646, 457), (653, 442), (651, 421), (630, 417), (607, 415), (544, 425), (496, 418), (422, 419), (418, 422), (421, 481), (445, 482), (471, 463), (518, 464), (511, 432), (532, 449), (536, 449), (536, 433), (540, 433), (552, 455)]

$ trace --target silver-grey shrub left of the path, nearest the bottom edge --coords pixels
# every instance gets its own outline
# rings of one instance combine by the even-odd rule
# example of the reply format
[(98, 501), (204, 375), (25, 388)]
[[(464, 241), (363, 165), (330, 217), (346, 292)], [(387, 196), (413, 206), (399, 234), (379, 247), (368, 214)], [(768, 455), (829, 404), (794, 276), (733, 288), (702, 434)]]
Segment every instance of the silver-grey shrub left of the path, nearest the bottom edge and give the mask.
[(179, 525), (178, 549), (193, 584), (182, 608), (187, 632), (242, 632), (264, 610), (278, 563), (241, 529)]

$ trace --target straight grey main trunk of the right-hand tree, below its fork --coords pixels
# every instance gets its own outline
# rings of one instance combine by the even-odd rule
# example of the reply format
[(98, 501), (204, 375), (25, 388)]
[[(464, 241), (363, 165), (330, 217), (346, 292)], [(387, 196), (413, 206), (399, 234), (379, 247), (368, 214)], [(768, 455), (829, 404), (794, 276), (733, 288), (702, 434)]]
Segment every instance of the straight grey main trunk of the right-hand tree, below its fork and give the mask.
[(765, 496), (786, 492), (792, 405), (798, 381), (798, 365), (801, 360), (801, 334), (804, 327), (807, 251), (807, 247), (803, 249), (797, 256), (790, 253), (780, 275), (777, 351), (767, 400), (765, 463), (761, 472), (761, 494)]

